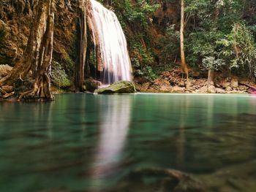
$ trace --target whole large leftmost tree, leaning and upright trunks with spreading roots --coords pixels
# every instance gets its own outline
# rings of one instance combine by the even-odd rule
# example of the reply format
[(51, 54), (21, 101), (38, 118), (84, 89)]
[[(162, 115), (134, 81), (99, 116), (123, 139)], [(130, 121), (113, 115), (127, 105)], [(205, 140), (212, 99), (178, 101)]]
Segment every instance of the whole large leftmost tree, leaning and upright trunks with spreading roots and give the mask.
[(0, 85), (12, 85), (18, 79), (23, 80), (33, 69), (35, 77), (33, 88), (21, 93), (19, 99), (53, 100), (54, 96), (50, 91), (50, 66), (53, 55), (55, 0), (36, 1), (36, 6), (23, 57), (11, 73), (0, 80)]

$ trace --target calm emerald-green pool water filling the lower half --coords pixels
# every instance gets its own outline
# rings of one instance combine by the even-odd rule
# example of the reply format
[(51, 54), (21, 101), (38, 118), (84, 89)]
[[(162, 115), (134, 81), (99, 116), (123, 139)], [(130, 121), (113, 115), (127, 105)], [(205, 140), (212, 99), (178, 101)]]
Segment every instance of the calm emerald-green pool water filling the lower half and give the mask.
[(0, 191), (143, 191), (127, 175), (153, 167), (256, 191), (255, 96), (67, 94), (0, 112)]

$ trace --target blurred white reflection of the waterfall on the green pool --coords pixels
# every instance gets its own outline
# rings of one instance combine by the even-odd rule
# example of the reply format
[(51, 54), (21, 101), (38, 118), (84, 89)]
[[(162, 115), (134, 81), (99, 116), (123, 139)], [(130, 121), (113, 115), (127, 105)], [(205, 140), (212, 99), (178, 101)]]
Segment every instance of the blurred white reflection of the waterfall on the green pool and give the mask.
[(100, 186), (109, 174), (115, 174), (121, 153), (126, 144), (131, 118), (131, 97), (107, 97), (101, 103), (101, 123), (94, 164), (92, 166), (93, 185)]

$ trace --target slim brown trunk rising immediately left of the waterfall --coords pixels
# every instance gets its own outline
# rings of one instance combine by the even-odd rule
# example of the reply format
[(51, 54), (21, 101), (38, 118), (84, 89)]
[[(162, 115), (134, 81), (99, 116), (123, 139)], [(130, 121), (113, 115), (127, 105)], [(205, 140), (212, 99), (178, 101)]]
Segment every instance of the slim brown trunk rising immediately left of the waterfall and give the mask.
[(75, 69), (75, 89), (83, 91), (84, 69), (86, 64), (87, 33), (86, 33), (86, 0), (79, 0), (80, 38), (78, 44), (78, 63)]

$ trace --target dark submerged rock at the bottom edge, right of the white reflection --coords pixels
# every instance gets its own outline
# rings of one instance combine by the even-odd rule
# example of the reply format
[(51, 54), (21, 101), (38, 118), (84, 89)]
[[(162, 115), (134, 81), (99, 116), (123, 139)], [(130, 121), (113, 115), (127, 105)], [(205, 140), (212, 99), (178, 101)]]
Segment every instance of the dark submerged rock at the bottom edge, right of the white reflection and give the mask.
[(205, 186), (192, 175), (173, 169), (148, 168), (130, 172), (116, 191), (205, 192)]

